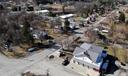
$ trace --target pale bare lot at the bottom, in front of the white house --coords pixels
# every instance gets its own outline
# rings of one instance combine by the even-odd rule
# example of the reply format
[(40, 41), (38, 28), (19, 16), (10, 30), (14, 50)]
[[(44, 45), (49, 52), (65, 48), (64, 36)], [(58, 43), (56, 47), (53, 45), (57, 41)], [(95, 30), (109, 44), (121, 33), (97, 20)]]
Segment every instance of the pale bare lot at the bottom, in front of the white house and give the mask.
[(77, 72), (68, 70), (67, 68), (64, 68), (64, 66), (61, 64), (63, 60), (43, 60), (37, 64), (34, 64), (30, 68), (26, 70), (26, 72), (30, 71), (32, 73), (35, 73), (37, 75), (46, 74), (47, 70), (49, 70), (50, 76), (82, 76), (78, 74)]

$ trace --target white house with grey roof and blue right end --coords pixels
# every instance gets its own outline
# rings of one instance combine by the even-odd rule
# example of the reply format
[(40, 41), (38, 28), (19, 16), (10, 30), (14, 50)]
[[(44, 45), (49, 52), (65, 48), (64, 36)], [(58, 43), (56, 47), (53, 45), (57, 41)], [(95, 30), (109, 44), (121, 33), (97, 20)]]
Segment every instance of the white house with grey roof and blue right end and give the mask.
[(80, 47), (76, 47), (73, 55), (74, 63), (99, 71), (103, 58), (107, 56), (107, 52), (102, 47), (83, 43)]

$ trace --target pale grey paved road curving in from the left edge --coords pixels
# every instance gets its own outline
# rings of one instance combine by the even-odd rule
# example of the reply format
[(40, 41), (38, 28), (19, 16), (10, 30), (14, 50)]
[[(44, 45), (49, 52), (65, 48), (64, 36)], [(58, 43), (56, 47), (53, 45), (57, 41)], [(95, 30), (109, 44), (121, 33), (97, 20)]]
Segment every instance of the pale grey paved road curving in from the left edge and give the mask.
[(47, 55), (56, 51), (49, 49), (35, 53), (23, 59), (9, 59), (4, 55), (0, 55), (0, 76), (20, 76), (20, 74), (32, 65), (44, 60)]

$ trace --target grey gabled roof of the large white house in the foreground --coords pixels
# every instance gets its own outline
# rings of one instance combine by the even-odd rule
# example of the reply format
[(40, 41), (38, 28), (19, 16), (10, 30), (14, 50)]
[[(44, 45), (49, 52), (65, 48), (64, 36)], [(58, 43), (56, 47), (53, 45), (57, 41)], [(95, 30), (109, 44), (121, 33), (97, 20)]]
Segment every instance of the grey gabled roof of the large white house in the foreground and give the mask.
[(80, 47), (76, 47), (73, 55), (75, 57), (88, 57), (93, 62), (96, 62), (98, 55), (101, 54), (102, 51), (102, 47), (84, 43)]

